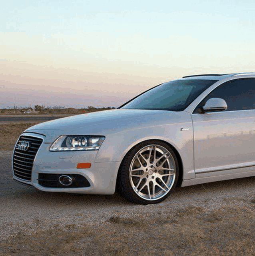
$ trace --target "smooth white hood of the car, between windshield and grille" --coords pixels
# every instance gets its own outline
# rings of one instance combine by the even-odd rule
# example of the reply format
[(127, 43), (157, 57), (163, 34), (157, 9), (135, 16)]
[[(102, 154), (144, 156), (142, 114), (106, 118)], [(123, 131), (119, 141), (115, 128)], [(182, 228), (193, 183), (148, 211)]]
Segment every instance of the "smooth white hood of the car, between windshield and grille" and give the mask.
[(117, 109), (59, 118), (32, 126), (25, 132), (43, 134), (46, 136), (44, 142), (47, 143), (53, 142), (60, 135), (107, 136), (112, 133), (126, 132), (129, 129), (167, 125), (180, 120), (183, 121), (181, 112)]

